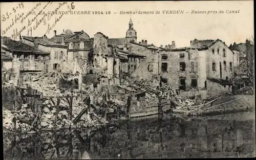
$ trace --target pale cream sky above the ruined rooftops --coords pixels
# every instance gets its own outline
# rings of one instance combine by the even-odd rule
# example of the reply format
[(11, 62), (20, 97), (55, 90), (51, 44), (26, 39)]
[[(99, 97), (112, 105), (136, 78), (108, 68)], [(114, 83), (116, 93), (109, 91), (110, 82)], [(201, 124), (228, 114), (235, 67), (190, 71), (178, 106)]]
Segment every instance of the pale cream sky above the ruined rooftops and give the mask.
[[(148, 44), (153, 43), (158, 47), (161, 44), (172, 44), (172, 41), (175, 41), (176, 47), (187, 47), (190, 40), (195, 38), (219, 38), (229, 45), (233, 42), (245, 42), (246, 38), (254, 35), (253, 1), (74, 2), (73, 11), (91, 11), (91, 14), (65, 14), (49, 33), (47, 33), (48, 24), (52, 26), (55, 17), (58, 18), (60, 14), (55, 14), (48, 20), (48, 12), (54, 11), (59, 6), (58, 2), (47, 5), (44, 9), (47, 14), (46, 20), (42, 21), (38, 27), (35, 25), (36, 20), (28, 26), (29, 20), (34, 18), (35, 14), (47, 4), (46, 2), (41, 2), (34, 9), (34, 15), (28, 15), (23, 23), (20, 22), (22, 18), (15, 22), (15, 14), (16, 17), (18, 14), (24, 14), (22, 16), (24, 18), (37, 3), (24, 2), (23, 5), (1, 3), (1, 36), (11, 37), (13, 30), (20, 31), (25, 26), (26, 29), (21, 32), (23, 36), (28, 33), (31, 35), (32, 31), (32, 36), (41, 37), (46, 34), (48, 38), (51, 38), (53, 30), (56, 30), (57, 34), (61, 34), (63, 30), (70, 29), (71, 31), (83, 30), (90, 37), (101, 32), (109, 38), (121, 38), (125, 37), (130, 18), (132, 18), (134, 29), (137, 32), (137, 42), (144, 39)], [(71, 6), (71, 3), (62, 5), (58, 11), (68, 11), (68, 5)], [(184, 14), (163, 14), (165, 10), (181, 10)], [(224, 13), (219, 13), (220, 10)], [(227, 10), (239, 10), (239, 13), (228, 14)], [(104, 14), (92, 14), (92, 11), (102, 11)], [(106, 14), (108, 11), (111, 14)], [(154, 11), (154, 14), (120, 14), (120, 11)], [(159, 11), (160, 14), (156, 14), (156, 11)], [(206, 14), (191, 14), (192, 11), (206, 11)], [(212, 12), (207, 14), (208, 11)], [(43, 19), (42, 17), (43, 15), (38, 15), (38, 21)], [(14, 21), (13, 25), (12, 21)], [(9, 29), (6, 30), (8, 26)], [(33, 26), (35, 26), (35, 30), (33, 30)], [(32, 27), (31, 31), (30, 27)]]

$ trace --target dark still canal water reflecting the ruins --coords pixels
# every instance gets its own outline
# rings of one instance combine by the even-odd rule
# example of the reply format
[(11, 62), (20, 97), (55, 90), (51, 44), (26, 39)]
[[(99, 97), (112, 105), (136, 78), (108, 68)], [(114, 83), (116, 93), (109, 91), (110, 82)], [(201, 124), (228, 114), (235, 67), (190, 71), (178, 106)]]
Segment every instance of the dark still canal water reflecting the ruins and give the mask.
[(153, 118), (105, 126), (90, 133), (23, 135), (25, 140), (17, 140), (16, 146), (5, 153), (5, 159), (253, 157), (254, 117), (243, 114), (226, 119), (172, 118), (160, 122)]

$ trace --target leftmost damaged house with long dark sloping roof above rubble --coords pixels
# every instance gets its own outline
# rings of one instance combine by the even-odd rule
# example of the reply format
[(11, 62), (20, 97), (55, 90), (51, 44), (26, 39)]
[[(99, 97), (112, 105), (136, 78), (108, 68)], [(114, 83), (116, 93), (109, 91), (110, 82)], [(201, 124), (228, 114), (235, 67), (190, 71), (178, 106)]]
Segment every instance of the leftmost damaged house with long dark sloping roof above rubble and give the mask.
[(1, 37), (1, 52), (8, 57), (12, 57), (11, 80), (16, 85), (28, 79), (30, 74), (48, 72), (49, 52), (38, 50), (20, 41), (12, 40), (8, 37)]

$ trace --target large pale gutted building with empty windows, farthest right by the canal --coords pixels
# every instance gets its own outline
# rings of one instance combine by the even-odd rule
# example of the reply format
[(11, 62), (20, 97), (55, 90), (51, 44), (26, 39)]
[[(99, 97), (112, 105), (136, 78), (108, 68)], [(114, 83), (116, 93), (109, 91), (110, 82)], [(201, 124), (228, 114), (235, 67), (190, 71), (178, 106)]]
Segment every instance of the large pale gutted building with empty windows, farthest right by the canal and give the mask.
[[(162, 50), (159, 72), (178, 94), (203, 98), (231, 92), (233, 52), (221, 40), (192, 40), (188, 48)], [(227, 86), (226, 86), (227, 85)]]

